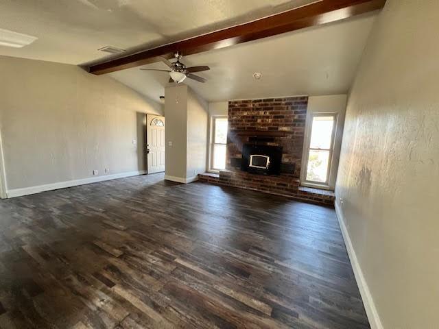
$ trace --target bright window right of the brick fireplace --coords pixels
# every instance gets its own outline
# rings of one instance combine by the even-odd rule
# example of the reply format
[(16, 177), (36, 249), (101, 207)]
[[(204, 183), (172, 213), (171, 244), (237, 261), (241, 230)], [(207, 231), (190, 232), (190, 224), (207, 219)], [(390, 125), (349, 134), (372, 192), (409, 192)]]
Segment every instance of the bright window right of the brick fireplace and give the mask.
[(329, 187), (337, 114), (313, 114), (311, 118), (304, 182)]

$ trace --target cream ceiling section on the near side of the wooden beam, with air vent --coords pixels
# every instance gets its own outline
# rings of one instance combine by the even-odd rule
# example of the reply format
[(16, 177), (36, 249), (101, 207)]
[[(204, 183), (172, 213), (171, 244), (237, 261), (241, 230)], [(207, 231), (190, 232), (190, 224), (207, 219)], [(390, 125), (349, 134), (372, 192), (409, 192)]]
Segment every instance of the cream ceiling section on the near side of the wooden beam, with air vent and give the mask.
[(0, 55), (95, 62), (107, 45), (154, 47), (245, 23), (316, 0), (0, 0), (0, 29), (38, 37)]

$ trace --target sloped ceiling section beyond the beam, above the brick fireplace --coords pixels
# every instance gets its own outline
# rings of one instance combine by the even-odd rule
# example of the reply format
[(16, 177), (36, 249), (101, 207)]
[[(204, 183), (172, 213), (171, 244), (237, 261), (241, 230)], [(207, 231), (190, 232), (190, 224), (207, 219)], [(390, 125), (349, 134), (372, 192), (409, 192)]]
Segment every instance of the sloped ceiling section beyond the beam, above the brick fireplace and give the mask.
[[(187, 56), (182, 60), (187, 66), (209, 65), (211, 71), (196, 73), (208, 80), (205, 84), (189, 79), (183, 83), (207, 101), (346, 93), (375, 17), (366, 14)], [(167, 69), (161, 62), (142, 67)], [(262, 73), (260, 80), (254, 80), (254, 72)], [(169, 80), (165, 72), (139, 68), (110, 76), (155, 100), (164, 95)]]

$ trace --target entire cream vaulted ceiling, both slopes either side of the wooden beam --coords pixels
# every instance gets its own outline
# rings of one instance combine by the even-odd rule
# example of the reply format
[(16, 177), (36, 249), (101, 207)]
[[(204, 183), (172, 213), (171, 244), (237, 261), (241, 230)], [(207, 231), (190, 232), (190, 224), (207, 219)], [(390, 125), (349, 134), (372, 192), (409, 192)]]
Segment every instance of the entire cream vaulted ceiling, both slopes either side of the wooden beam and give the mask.
[[(0, 46), (0, 55), (67, 64), (110, 58), (97, 49), (127, 53), (163, 45), (300, 7), (315, 0), (6, 0), (0, 29), (38, 37), (21, 49)], [(346, 93), (377, 12), (183, 58), (209, 65), (208, 81), (185, 80), (208, 101), (282, 95)], [(143, 66), (167, 69), (161, 62)], [(254, 72), (262, 73), (254, 80)], [(109, 74), (158, 101), (167, 73), (127, 69)]]

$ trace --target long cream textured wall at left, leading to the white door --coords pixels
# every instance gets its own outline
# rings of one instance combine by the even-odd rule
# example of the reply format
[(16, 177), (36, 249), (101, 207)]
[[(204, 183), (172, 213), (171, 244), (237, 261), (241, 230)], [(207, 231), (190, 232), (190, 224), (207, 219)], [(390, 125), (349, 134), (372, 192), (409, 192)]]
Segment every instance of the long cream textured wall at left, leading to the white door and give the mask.
[(8, 189), (145, 169), (145, 113), (162, 114), (158, 103), (68, 64), (0, 57), (0, 77)]

